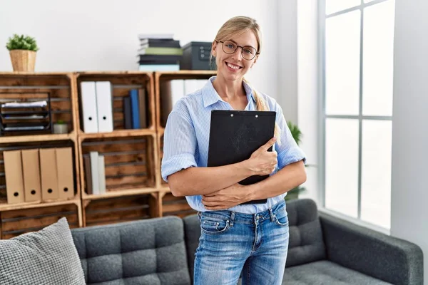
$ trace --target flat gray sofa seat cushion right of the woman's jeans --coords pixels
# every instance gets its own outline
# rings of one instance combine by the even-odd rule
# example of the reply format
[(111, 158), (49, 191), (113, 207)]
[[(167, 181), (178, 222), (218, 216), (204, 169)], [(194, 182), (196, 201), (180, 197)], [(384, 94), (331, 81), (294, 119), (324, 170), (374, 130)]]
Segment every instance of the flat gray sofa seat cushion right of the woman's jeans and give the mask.
[(347, 269), (339, 264), (325, 260), (286, 268), (282, 284), (386, 285), (390, 283), (374, 279), (358, 271)]

